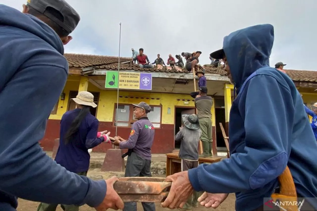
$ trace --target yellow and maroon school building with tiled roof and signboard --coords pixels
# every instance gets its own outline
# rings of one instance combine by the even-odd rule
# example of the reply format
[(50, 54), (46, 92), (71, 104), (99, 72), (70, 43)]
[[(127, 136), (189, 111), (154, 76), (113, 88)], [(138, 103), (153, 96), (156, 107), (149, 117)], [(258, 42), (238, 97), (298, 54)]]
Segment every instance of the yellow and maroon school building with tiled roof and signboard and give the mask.
[[(44, 150), (53, 150), (54, 140), (59, 138), (61, 117), (66, 111), (75, 108), (74, 102), (70, 99), (75, 98), (80, 91), (94, 94), (94, 102), (98, 106), (91, 109), (91, 113), (99, 120), (99, 131), (108, 130), (111, 132), (111, 136), (115, 136), (117, 122), (117, 134), (125, 139), (128, 138), (130, 127), (135, 121), (132, 103), (144, 101), (152, 107), (152, 112), (148, 114), (148, 118), (155, 127), (152, 153), (170, 153), (179, 147), (179, 143), (174, 142), (174, 136), (181, 126), (181, 114), (195, 112), (194, 99), (189, 94), (194, 91), (192, 73), (171, 67), (142, 69), (132, 64), (130, 58), (120, 57), (120, 74), (126, 75), (126, 77), (131, 76), (133, 81), (122, 80), (119, 82), (119, 105), (118, 111), (116, 111), (117, 88), (105, 88), (105, 84), (107, 71), (118, 71), (118, 57), (84, 54), (65, 54), (65, 57), (69, 63), (69, 76), (64, 90), (49, 116), (45, 136), (40, 141)], [(214, 153), (217, 150), (226, 151), (219, 123), (223, 124), (226, 131), (228, 130), (233, 85), (230, 84), (223, 67), (204, 65), (204, 68), (206, 69), (208, 95), (212, 96), (214, 100), (211, 111), (213, 150)], [(113, 79), (109, 80), (113, 80), (113, 82), (107, 79), (107, 84), (110, 82), (112, 86), (115, 86), (117, 79), (114, 78), (118, 77), (118, 74), (108, 73), (108, 75), (112, 74)], [(286, 73), (303, 95), (302, 98), (307, 106), (317, 102), (317, 92), (315, 91), (317, 89), (317, 71), (286, 70)], [(146, 77), (141, 78), (142, 74)], [(136, 85), (136, 81), (140, 84), (139, 86)], [(198, 81), (196, 83), (198, 84)], [(140, 86), (147, 86), (145, 88), (151, 90), (139, 90)], [(116, 112), (118, 112), (117, 121)], [(95, 147), (93, 152), (106, 152), (111, 147), (111, 144), (102, 143)]]

